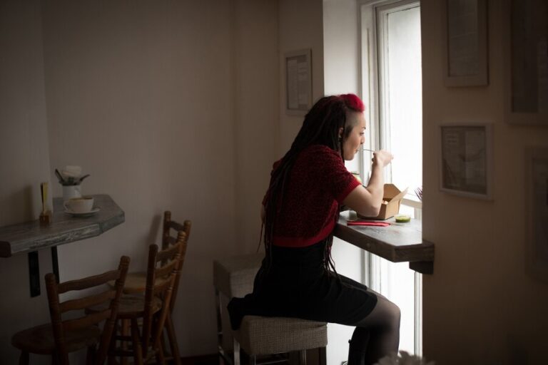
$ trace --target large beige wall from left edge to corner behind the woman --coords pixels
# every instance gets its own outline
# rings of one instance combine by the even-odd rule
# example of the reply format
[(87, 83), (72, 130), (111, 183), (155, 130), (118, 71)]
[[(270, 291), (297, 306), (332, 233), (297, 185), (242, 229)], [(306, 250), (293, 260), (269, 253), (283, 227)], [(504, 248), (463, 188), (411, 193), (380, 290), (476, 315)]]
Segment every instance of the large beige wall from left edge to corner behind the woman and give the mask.
[[(19, 212), (31, 198), (16, 193), (55, 182), (54, 168), (69, 164), (91, 174), (83, 192), (111, 195), (126, 222), (59, 247), (62, 280), (113, 267), (120, 255), (143, 269), (163, 210), (192, 220), (174, 319), (183, 356), (213, 353), (212, 260), (255, 250), (274, 155), (277, 4), (34, 1), (6, 11), (2, 4), (1, 37), (18, 48), (0, 66), (10, 75), (0, 89), (0, 178), (13, 182), (1, 185), (0, 198), (3, 212), (18, 213), (0, 224), (36, 217)], [(12, 99), (21, 105), (4, 111)], [(51, 270), (47, 254), (42, 276)], [(11, 334), (48, 314), (45, 295), (29, 298), (26, 256), (1, 260), (10, 279), (0, 289), (10, 299), (1, 301), (0, 322), (10, 325), (0, 330), (0, 362), (11, 364)], [(41, 361), (48, 359), (32, 360)]]

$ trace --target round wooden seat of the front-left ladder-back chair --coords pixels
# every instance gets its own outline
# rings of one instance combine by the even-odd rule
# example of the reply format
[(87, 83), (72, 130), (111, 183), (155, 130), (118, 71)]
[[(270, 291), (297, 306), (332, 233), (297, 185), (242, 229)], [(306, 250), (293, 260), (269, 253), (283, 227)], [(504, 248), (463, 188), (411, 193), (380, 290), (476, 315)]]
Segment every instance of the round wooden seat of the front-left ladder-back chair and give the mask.
[[(97, 344), (101, 336), (101, 329), (89, 326), (65, 331), (64, 334), (67, 350), (73, 352)], [(21, 351), (50, 355), (55, 350), (54, 331), (51, 324), (24, 329), (11, 337), (11, 344)]]

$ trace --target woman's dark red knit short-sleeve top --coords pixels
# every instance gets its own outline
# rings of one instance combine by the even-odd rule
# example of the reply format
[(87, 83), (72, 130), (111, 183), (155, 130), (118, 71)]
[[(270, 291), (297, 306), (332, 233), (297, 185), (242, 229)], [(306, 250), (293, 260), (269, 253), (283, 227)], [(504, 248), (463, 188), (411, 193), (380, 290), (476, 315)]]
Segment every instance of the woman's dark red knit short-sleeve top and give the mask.
[(340, 153), (325, 145), (305, 148), (295, 160), (275, 214), (273, 245), (305, 247), (328, 237), (339, 203), (358, 185)]

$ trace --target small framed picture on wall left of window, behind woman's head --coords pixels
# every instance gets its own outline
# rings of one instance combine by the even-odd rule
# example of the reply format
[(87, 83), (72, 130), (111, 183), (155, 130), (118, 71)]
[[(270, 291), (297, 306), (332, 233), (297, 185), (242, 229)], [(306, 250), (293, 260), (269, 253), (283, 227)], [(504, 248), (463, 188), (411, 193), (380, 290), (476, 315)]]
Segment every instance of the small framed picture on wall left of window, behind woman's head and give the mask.
[(285, 53), (285, 113), (305, 115), (312, 108), (310, 49)]

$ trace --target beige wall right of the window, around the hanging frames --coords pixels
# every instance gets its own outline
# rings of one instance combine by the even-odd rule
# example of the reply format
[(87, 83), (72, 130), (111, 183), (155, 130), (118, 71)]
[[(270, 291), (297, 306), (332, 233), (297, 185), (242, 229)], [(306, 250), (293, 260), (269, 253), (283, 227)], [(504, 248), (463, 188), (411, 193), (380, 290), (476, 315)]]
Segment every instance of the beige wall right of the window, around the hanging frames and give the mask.
[[(423, 235), (436, 245), (424, 280), (424, 352), (436, 364), (544, 364), (547, 284), (525, 274), (524, 147), (547, 128), (504, 122), (504, 6), (489, 4), (489, 86), (446, 88), (440, 1), (421, 2), (424, 113)], [(494, 199), (438, 190), (440, 123), (494, 125)]]

